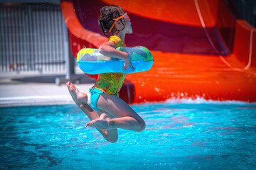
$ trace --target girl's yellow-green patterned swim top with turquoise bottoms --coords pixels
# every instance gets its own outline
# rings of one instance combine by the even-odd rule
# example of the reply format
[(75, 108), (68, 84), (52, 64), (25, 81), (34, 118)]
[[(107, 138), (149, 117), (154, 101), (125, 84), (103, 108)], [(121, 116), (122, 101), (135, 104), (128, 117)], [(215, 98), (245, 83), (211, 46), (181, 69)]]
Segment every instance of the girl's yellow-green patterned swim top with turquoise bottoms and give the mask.
[[(126, 47), (122, 40), (117, 36), (111, 36), (109, 38), (109, 41), (114, 42), (117, 47)], [(97, 100), (102, 92), (105, 94), (114, 94), (119, 96), (119, 91), (122, 87), (122, 84), (124, 83), (125, 76), (126, 74), (124, 73), (100, 74), (100, 77), (96, 81), (95, 86), (90, 89), (92, 108), (95, 110), (100, 110), (99, 108), (97, 108)]]

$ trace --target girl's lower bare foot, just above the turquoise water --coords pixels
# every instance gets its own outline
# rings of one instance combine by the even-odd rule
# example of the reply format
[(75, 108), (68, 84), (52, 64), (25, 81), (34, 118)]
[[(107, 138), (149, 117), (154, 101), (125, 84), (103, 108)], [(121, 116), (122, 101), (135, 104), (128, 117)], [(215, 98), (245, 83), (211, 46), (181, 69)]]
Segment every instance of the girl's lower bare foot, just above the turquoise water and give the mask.
[(102, 113), (100, 118), (90, 121), (90, 123), (86, 123), (87, 126), (95, 127), (97, 129), (110, 129), (110, 125), (112, 124), (111, 119), (105, 114)]

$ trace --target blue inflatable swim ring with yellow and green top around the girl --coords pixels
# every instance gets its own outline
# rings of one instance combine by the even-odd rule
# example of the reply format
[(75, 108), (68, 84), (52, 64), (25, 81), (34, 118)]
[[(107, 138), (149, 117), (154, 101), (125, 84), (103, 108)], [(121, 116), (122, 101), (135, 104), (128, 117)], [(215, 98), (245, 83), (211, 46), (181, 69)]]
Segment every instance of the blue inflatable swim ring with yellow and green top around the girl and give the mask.
[(78, 66), (87, 74), (145, 72), (153, 66), (153, 56), (146, 47), (117, 47), (117, 50), (128, 53), (134, 70), (131, 67), (123, 70), (124, 60), (107, 57), (92, 48), (83, 48), (78, 52)]

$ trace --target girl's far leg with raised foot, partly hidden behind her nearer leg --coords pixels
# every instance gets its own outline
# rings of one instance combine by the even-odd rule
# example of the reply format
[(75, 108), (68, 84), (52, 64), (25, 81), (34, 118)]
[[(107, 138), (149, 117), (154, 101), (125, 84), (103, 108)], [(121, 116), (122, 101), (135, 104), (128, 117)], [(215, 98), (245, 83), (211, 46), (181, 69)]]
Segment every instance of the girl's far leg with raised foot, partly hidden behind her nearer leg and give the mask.
[[(90, 120), (95, 120), (100, 118), (99, 115), (87, 104), (87, 94), (80, 92), (74, 84), (68, 82), (68, 91), (73, 98), (73, 101), (78, 105), (78, 107), (87, 115)], [(102, 114), (102, 111), (100, 111)], [(101, 130), (97, 129), (102, 134), (102, 136), (109, 142), (117, 142), (117, 129), (112, 130)]]

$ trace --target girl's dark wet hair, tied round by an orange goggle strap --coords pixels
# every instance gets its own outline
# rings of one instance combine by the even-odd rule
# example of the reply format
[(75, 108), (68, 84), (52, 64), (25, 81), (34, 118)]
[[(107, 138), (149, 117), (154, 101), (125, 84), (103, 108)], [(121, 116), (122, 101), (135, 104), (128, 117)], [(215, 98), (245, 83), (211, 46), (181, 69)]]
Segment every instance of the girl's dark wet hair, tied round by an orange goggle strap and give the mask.
[[(110, 32), (110, 28), (114, 23), (113, 19), (122, 16), (123, 13), (124, 13), (124, 10), (120, 6), (115, 6), (115, 5), (104, 6), (100, 10), (100, 17), (98, 18), (98, 25), (100, 26), (100, 29), (102, 30), (104, 35), (107, 36), (107, 33)], [(122, 26), (124, 26), (123, 20), (121, 19), (119, 21), (122, 23)], [(124, 30), (124, 28), (122, 28), (122, 30)], [(111, 33), (113, 34), (116, 31), (117, 31), (117, 33), (119, 33), (119, 30), (117, 30), (114, 26), (114, 28), (112, 28), (112, 30), (111, 30)], [(109, 36), (107, 36), (107, 37), (109, 37)]]

